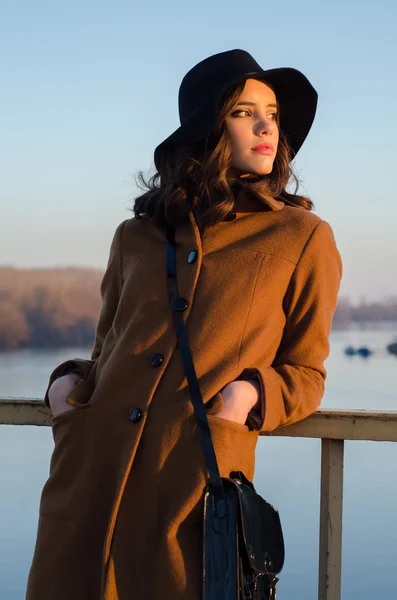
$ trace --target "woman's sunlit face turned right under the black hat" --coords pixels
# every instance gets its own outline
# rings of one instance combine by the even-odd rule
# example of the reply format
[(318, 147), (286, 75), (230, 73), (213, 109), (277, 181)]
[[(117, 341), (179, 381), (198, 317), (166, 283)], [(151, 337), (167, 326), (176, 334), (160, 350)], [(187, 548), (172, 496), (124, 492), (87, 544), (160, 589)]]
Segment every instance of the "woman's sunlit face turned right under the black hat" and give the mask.
[[(247, 79), (225, 122), (232, 145), (233, 174), (271, 173), (279, 137), (277, 100), (272, 88), (257, 79)], [(255, 150), (259, 145), (262, 147)]]

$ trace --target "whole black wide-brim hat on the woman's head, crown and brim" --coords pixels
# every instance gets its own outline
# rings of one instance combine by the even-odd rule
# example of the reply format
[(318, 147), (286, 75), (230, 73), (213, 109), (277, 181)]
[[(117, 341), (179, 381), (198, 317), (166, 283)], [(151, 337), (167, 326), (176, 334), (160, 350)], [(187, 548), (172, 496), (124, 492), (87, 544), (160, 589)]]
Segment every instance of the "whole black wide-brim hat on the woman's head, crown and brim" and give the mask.
[(166, 146), (199, 141), (215, 128), (220, 100), (233, 84), (246, 79), (269, 83), (280, 107), (280, 130), (286, 136), (293, 158), (313, 124), (317, 92), (310, 81), (290, 67), (265, 71), (245, 50), (228, 50), (202, 60), (186, 73), (179, 88), (178, 105), (181, 126), (154, 151), (154, 164)]

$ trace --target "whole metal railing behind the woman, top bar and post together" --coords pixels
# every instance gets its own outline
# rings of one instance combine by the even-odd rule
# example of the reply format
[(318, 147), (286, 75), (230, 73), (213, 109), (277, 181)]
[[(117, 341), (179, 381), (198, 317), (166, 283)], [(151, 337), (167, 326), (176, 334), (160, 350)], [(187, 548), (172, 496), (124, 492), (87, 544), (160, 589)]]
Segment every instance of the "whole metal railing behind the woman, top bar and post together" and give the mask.
[[(0, 425), (51, 425), (40, 398), (0, 398)], [(397, 411), (320, 409), (270, 436), (321, 439), (319, 600), (340, 600), (345, 440), (397, 442)]]

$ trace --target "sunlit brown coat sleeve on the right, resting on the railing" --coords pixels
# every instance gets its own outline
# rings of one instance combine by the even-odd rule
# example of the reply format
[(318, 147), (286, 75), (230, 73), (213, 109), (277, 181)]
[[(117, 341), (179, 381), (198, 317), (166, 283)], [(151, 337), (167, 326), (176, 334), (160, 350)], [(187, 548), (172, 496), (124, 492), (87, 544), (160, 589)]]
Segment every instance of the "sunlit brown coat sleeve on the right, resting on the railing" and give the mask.
[(329, 335), (342, 278), (342, 260), (330, 225), (320, 220), (307, 241), (283, 300), (286, 323), (270, 367), (245, 369), (257, 377), (259, 409), (247, 425), (259, 431), (300, 421), (314, 412), (324, 394)]

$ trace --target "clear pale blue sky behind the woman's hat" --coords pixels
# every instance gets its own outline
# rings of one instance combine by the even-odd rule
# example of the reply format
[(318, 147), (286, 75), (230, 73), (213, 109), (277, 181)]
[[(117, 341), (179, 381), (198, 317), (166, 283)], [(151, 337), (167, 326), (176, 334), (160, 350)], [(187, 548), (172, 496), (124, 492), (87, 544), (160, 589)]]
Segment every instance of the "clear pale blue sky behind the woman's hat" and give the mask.
[(242, 48), (319, 92), (294, 167), (334, 230), (341, 295), (397, 295), (396, 22), (394, 0), (3, 0), (0, 264), (104, 269), (183, 75)]

